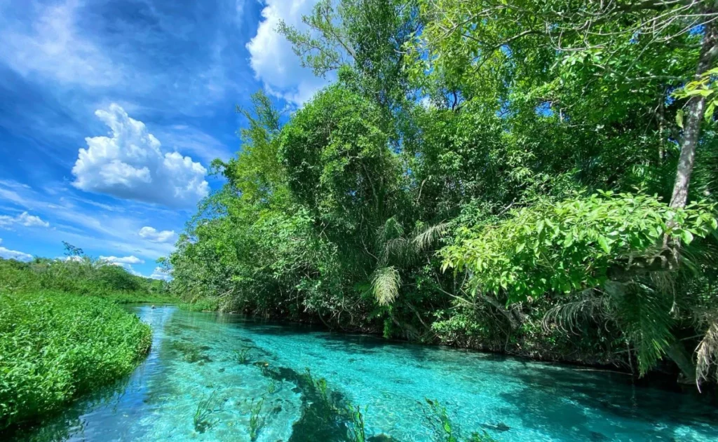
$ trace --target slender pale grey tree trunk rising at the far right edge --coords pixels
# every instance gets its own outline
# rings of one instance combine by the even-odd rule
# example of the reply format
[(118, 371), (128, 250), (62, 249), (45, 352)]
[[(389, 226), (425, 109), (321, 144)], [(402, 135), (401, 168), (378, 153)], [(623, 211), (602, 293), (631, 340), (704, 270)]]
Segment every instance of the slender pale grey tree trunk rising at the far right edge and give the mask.
[[(716, 23), (714, 21), (707, 23), (704, 32), (701, 55), (696, 66), (696, 80), (711, 68), (712, 62), (718, 53), (718, 27)], [(676, 171), (676, 182), (673, 184), (671, 207), (686, 207), (686, 202), (688, 201), (688, 187), (696, 159), (696, 146), (701, 134), (701, 122), (706, 111), (706, 99), (700, 95), (692, 97), (688, 105), (686, 105), (686, 111), (681, 156), (678, 170)]]

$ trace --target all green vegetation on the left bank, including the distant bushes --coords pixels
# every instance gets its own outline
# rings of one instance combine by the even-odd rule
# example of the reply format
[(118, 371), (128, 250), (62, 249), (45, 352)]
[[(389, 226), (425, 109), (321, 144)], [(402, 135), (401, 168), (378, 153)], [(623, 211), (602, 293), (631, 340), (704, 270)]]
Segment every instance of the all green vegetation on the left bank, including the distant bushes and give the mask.
[(65, 249), (62, 259), (0, 259), (0, 436), (129, 375), (151, 330), (117, 304), (172, 300), (164, 281)]

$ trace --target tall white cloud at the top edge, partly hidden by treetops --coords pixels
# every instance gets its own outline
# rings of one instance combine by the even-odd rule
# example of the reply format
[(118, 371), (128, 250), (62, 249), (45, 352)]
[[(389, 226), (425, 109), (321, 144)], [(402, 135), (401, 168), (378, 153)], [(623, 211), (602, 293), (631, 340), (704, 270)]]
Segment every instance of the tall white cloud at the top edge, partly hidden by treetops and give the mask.
[(292, 44), (276, 31), (284, 20), (289, 26), (306, 29), (302, 15), (312, 11), (314, 0), (267, 0), (262, 9), (264, 20), (259, 23), (256, 36), (247, 43), (250, 65), (255, 77), (264, 82), (267, 92), (301, 105), (329, 83), (314, 76), (311, 69), (302, 67)]

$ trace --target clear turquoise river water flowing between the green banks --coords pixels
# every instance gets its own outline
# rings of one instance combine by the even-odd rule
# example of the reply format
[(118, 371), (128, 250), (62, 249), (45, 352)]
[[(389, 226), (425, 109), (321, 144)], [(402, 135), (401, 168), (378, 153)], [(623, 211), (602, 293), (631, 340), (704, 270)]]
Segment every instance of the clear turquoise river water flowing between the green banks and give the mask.
[(370, 441), (434, 441), (430, 398), (463, 435), (498, 441), (718, 441), (716, 408), (625, 375), (172, 307), (136, 313), (154, 328), (136, 372), (17, 440), (250, 441), (259, 405), (256, 441), (345, 441), (336, 410), (353, 404), (366, 407)]

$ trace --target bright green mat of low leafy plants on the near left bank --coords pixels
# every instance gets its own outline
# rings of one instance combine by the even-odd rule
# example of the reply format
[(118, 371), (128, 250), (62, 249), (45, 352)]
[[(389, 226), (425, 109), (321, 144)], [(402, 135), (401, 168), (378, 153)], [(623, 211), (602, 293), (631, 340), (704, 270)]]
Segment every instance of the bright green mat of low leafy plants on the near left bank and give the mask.
[(0, 291), (0, 431), (128, 375), (150, 344), (149, 326), (111, 301)]

